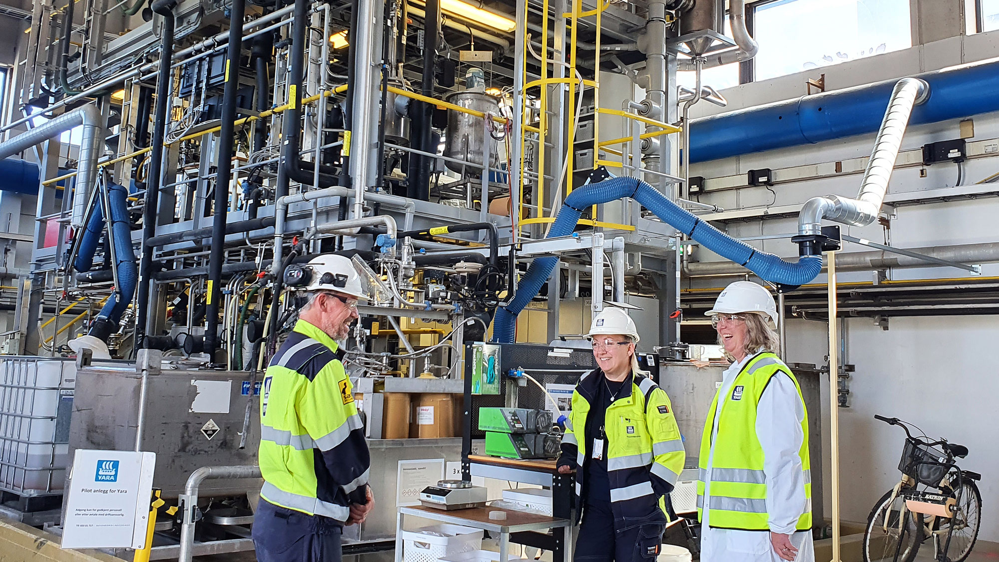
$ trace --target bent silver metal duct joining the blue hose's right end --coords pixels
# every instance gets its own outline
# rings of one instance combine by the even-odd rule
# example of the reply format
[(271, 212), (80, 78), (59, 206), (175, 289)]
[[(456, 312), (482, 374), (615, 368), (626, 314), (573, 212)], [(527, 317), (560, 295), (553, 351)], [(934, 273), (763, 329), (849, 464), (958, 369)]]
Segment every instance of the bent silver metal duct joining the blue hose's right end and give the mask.
[(798, 214), (799, 234), (821, 234), (823, 218), (850, 226), (866, 226), (877, 220), (912, 108), (929, 95), (929, 84), (919, 78), (902, 78), (895, 84), (857, 198), (826, 195), (809, 199)]

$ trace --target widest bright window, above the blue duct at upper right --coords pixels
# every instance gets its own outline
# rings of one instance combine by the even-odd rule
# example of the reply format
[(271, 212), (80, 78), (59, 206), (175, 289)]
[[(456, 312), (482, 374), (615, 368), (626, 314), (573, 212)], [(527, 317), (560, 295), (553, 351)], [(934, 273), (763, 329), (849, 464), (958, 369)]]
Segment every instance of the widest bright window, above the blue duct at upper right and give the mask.
[[(999, 0), (982, 1), (999, 12)], [(777, 0), (753, 9), (756, 80), (912, 46), (909, 0)]]

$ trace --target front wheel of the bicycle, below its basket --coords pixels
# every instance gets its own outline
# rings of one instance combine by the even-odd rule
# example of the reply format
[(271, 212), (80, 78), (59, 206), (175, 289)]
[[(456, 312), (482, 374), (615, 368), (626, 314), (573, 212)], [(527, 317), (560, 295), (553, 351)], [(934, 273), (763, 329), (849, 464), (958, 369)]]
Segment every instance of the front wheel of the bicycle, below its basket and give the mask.
[(912, 562), (923, 542), (923, 525), (918, 515), (905, 510), (904, 532), (900, 521), (905, 499), (892, 499), (888, 491), (874, 504), (864, 528), (864, 562)]

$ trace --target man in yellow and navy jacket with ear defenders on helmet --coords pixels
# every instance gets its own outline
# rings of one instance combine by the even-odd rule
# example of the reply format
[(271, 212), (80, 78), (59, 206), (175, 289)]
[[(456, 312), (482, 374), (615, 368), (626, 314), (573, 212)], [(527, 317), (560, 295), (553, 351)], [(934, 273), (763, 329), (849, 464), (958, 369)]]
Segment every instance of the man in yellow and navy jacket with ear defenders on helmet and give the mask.
[(375, 504), (368, 444), (336, 341), (347, 338), (366, 295), (351, 260), (337, 255), (292, 266), (285, 282), (304, 302), (261, 391), (264, 487), (254, 547), (260, 562), (339, 562), (344, 525), (363, 522)]

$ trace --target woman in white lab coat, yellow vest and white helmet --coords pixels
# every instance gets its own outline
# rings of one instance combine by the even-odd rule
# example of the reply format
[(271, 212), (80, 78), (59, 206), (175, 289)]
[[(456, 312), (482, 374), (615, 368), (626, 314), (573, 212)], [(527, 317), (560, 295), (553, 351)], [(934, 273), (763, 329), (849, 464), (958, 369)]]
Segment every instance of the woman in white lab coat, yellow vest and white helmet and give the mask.
[(794, 375), (774, 354), (773, 297), (738, 281), (707, 315), (732, 365), (700, 449), (700, 559), (814, 562), (808, 421)]

